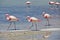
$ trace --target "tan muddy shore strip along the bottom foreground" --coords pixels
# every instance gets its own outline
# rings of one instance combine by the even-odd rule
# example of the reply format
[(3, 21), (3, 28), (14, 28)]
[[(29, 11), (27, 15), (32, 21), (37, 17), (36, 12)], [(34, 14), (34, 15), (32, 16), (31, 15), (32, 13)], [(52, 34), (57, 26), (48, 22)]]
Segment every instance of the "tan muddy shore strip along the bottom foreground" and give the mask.
[[(54, 29), (56, 29), (56, 28), (54, 28)], [(41, 29), (40, 31), (31, 31), (31, 30), (5, 30), (4, 32), (0, 31), (0, 39), (2, 38), (4, 40), (32, 40), (32, 39), (36, 39), (37, 40), (37, 38), (35, 38), (34, 35), (35, 36), (36, 35), (45, 36), (46, 33), (47, 33), (47, 35), (51, 35), (52, 32), (53, 32), (53, 31), (47, 31), (47, 30), (44, 31), (44, 30), (43, 29)]]

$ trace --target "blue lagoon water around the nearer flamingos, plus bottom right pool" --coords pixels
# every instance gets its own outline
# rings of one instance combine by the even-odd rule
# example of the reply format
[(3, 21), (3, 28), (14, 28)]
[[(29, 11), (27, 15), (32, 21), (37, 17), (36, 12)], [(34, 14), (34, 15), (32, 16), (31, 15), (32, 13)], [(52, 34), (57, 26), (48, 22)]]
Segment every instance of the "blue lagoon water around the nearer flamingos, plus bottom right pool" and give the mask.
[[(43, 11), (51, 14), (52, 18), (49, 20), (51, 26), (45, 26), (47, 21), (42, 16)], [(14, 7), (0, 7), (0, 30), (7, 30), (7, 27), (9, 26), (9, 22), (5, 19), (6, 13), (14, 15), (19, 18), (19, 21), (16, 22), (16, 28), (19, 30), (25, 30), (25, 29), (28, 30), (28, 28), (31, 26), (31, 23), (26, 20), (26, 16), (34, 16), (41, 20), (41, 22), (38, 23), (38, 29), (60, 28), (60, 12), (58, 9), (50, 9), (48, 6), (31, 6), (30, 8), (27, 8), (26, 6), (20, 6), (20, 7), (14, 6)], [(9, 30), (11, 29), (14, 29), (13, 25), (11, 25)], [(35, 27), (32, 27), (31, 30), (32, 29), (35, 29)], [(27, 38), (30, 37), (28, 36)], [(37, 38), (38, 38), (37, 40), (42, 40), (39, 39), (40, 35), (37, 35)], [(0, 40), (6, 40), (6, 39), (0, 37)], [(59, 31), (53, 32), (51, 36), (46, 40), (60, 40), (60, 32)]]

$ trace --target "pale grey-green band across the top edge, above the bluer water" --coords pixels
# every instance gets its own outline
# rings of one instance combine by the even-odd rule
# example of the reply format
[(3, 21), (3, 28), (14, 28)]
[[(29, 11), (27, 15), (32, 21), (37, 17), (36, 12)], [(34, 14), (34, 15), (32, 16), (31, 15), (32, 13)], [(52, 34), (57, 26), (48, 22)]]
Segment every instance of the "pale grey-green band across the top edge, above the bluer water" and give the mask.
[[(0, 6), (22, 6), (27, 0), (0, 0)], [(48, 5), (50, 0), (29, 0), (32, 5)], [(54, 0), (56, 1), (56, 0)]]

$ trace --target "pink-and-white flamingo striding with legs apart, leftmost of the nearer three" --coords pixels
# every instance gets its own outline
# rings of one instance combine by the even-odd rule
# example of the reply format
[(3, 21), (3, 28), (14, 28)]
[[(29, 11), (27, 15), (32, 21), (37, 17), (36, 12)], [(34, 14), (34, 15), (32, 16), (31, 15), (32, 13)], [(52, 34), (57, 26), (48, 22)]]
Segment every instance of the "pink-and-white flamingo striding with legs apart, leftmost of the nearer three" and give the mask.
[(5, 14), (5, 16), (6, 16), (6, 20), (8, 20), (10, 22), (10, 25), (8, 26), (8, 29), (10, 28), (10, 26), (13, 23), (14, 24), (14, 28), (16, 30), (16, 24), (15, 24), (15, 22), (18, 21), (18, 18), (15, 17), (15, 16), (13, 16), (13, 15), (9, 15), (9, 14)]

